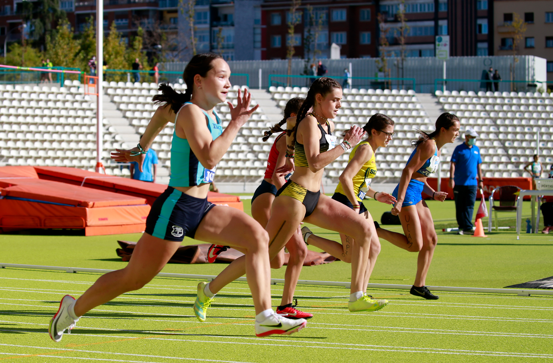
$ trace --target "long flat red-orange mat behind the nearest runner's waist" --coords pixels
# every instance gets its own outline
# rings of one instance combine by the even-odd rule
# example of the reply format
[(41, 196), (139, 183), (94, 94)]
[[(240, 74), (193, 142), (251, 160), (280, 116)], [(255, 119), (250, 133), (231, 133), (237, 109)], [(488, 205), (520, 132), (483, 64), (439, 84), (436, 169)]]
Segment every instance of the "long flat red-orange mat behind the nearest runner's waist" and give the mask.
[[(150, 206), (152, 206), (155, 199), (167, 188), (167, 186), (163, 184), (105, 175), (92, 171), (75, 169), (73, 167), (35, 166), (34, 169), (41, 179), (79, 186), (83, 185), (89, 188), (141, 197), (146, 199)], [(0, 170), (2, 170), (1, 167)], [(207, 200), (213, 204), (217, 204), (217, 206), (228, 206), (244, 211), (243, 203), (238, 196), (208, 192)]]

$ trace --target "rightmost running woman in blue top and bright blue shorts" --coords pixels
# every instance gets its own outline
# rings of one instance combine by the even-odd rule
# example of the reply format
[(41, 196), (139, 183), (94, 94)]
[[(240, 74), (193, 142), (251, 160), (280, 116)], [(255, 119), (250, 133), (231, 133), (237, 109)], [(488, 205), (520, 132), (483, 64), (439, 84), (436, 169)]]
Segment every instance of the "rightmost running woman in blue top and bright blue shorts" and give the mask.
[(434, 255), (437, 236), (432, 214), (421, 193), (443, 202), (445, 192), (434, 191), (426, 178), (436, 172), (440, 166), (440, 150), (447, 143), (452, 143), (459, 135), (460, 122), (456, 115), (442, 113), (436, 120), (436, 130), (430, 134), (419, 131), (420, 138), (413, 141), (415, 150), (409, 157), (401, 179), (392, 195), (397, 199), (392, 214), (399, 215), (404, 234), (390, 232), (380, 228), (377, 223), (379, 238), (410, 252), (419, 252), (415, 282), (411, 294), (425, 299), (437, 299), (426, 288), (426, 273)]

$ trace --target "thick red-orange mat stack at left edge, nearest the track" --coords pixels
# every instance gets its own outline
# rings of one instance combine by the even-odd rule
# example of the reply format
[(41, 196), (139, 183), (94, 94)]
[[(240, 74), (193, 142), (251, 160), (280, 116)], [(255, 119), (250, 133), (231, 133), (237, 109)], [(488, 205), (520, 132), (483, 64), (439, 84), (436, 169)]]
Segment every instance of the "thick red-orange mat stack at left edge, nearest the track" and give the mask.
[(144, 198), (38, 178), (29, 167), (0, 167), (0, 228), (84, 229), (85, 235), (136, 233), (150, 211)]

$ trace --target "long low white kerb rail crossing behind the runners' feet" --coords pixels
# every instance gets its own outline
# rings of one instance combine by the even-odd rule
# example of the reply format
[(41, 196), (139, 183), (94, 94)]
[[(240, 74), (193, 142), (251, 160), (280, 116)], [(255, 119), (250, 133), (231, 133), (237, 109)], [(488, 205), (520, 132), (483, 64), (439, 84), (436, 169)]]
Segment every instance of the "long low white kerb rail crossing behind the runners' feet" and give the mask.
[[(116, 270), (103, 270), (103, 269), (84, 269), (82, 267), (61, 267), (61, 266), (39, 266), (39, 265), (20, 265), (20, 264), (3, 264), (0, 262), (0, 267), (13, 267), (16, 269), (32, 269), (32, 270), (55, 270), (65, 271), (69, 273), (76, 272), (95, 272), (95, 273), (108, 273)], [(196, 278), (201, 280), (212, 281), (217, 276), (211, 275), (188, 275), (186, 273), (166, 273), (160, 272), (158, 277), (176, 277), (176, 278)], [(246, 277), (238, 277), (235, 281), (247, 281)], [(271, 278), (271, 285), (277, 283), (284, 283), (283, 278)], [(339, 282), (339, 281), (312, 281), (312, 280), (298, 280), (300, 285), (316, 285), (316, 286), (340, 286), (349, 288), (351, 283)], [(399, 290), (410, 290), (411, 285), (394, 285), (392, 283), (368, 283), (367, 287), (371, 288), (393, 288)], [(482, 288), (482, 287), (453, 287), (453, 286), (427, 286), (430, 290), (434, 291), (451, 291), (451, 292), (484, 292), (484, 293), (504, 293), (504, 294), (517, 294), (518, 296), (530, 296), (534, 295), (553, 295), (553, 290), (523, 290), (518, 288)]]

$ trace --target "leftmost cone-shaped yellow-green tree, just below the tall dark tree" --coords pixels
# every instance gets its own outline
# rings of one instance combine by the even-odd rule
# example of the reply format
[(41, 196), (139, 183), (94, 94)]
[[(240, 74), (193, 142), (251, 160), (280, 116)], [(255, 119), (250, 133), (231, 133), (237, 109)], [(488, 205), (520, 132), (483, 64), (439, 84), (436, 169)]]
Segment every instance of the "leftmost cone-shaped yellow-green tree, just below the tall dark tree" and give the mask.
[(79, 53), (81, 46), (74, 38), (74, 29), (69, 20), (64, 19), (55, 30), (46, 34), (46, 58), (49, 58), (54, 66), (80, 67)]

